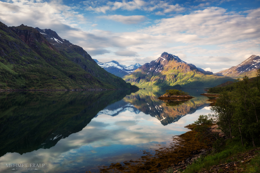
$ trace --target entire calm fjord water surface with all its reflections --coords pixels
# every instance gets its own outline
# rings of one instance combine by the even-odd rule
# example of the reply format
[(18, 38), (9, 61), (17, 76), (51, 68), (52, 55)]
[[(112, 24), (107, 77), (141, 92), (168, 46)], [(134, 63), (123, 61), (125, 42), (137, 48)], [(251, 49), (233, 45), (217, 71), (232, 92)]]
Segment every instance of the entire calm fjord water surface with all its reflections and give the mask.
[[(0, 172), (98, 172), (168, 146), (210, 113), (203, 90), (183, 91), (195, 98), (177, 106), (157, 99), (165, 93), (159, 89), (2, 92)], [(6, 168), (11, 163), (45, 165)]]

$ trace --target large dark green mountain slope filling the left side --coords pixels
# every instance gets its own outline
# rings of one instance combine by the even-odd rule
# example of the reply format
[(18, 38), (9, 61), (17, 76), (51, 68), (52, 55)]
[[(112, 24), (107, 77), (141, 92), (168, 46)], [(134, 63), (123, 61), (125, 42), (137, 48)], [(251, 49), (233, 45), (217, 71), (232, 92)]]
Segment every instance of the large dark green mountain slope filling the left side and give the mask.
[[(52, 34), (50, 40), (61, 40), (57, 33)], [(49, 42), (47, 35), (23, 24), (7, 27), (0, 22), (0, 89), (132, 87), (99, 67), (81, 47), (67, 40)]]

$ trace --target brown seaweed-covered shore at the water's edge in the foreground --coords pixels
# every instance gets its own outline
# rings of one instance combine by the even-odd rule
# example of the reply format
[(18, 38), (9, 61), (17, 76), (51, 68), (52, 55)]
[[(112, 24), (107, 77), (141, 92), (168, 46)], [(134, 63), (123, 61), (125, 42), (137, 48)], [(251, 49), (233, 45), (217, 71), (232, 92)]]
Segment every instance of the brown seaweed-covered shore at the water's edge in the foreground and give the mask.
[[(212, 150), (211, 144), (208, 142), (200, 142), (199, 138), (195, 138), (198, 133), (193, 131), (193, 125), (187, 125), (187, 131), (179, 136), (173, 136), (173, 141), (170, 146), (155, 150), (155, 154), (147, 153), (137, 160), (124, 161), (121, 163), (111, 164), (110, 166), (101, 166), (100, 172), (156, 172), (164, 173), (169, 168), (174, 169), (176, 172), (179, 169), (185, 169), (200, 155), (207, 155), (207, 151)], [(174, 172), (175, 172), (174, 171)]]

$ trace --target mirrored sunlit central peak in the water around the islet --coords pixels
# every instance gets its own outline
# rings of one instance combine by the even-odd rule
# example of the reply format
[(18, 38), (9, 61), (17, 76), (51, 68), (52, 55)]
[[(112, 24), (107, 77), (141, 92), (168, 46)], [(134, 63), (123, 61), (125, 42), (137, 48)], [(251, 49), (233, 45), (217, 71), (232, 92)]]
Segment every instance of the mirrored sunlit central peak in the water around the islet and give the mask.
[[(195, 91), (192, 91), (195, 92)], [(192, 114), (199, 108), (204, 108), (209, 104), (206, 98), (196, 97), (190, 99), (181, 105), (166, 106), (164, 101), (157, 99), (158, 96), (163, 95), (164, 90), (139, 90), (136, 93), (127, 95), (123, 100), (131, 103), (138, 110), (149, 114), (152, 117), (156, 117), (161, 121), (162, 125), (168, 125), (175, 121), (178, 121), (181, 117)], [(197, 93), (195, 93), (197, 94)]]

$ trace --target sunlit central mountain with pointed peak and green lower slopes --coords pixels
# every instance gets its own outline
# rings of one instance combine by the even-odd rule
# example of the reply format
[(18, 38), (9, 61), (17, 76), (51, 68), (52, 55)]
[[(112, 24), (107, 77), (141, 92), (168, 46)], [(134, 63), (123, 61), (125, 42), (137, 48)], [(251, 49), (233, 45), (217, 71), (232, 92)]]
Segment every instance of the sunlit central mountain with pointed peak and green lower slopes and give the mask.
[(232, 78), (222, 77), (202, 71), (193, 64), (182, 61), (179, 57), (164, 52), (155, 61), (145, 63), (133, 73), (123, 77), (126, 82), (139, 88), (206, 88), (233, 81)]

